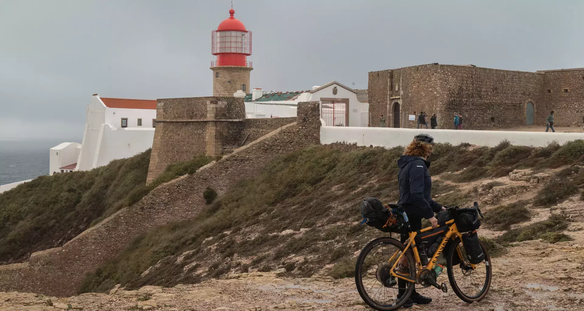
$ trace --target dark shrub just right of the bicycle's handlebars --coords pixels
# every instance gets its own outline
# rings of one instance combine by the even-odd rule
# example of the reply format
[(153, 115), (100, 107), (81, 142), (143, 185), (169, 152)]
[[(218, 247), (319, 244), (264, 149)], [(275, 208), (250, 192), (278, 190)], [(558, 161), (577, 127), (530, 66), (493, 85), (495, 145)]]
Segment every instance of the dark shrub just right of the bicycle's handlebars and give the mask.
[(507, 205), (500, 205), (486, 212), (484, 223), (495, 230), (509, 230), (511, 225), (524, 221), (529, 221), (529, 209), (525, 207), (526, 201), (514, 202)]

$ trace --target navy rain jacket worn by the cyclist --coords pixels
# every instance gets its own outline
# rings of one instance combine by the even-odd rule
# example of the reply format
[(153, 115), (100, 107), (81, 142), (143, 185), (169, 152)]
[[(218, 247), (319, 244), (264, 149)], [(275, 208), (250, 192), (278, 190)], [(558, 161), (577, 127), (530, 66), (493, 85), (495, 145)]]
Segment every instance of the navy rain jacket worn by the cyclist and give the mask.
[(404, 206), (406, 214), (429, 219), (434, 216), (434, 212), (440, 212), (442, 205), (430, 197), (432, 178), (424, 159), (402, 155), (398, 159), (398, 167), (398, 204)]

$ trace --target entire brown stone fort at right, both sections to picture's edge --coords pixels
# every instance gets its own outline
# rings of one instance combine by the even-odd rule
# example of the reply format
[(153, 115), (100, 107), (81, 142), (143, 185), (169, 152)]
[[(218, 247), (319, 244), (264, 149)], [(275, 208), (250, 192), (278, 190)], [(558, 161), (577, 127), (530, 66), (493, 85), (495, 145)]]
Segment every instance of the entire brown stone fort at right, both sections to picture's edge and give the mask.
[[(568, 92), (563, 91), (568, 88)], [(551, 90), (551, 93), (547, 93)], [(453, 128), (453, 113), (463, 115), (463, 127), (486, 130), (526, 125), (526, 107), (534, 106), (534, 123), (545, 124), (555, 110), (555, 124), (582, 124), (584, 68), (522, 72), (472, 65), (427, 64), (369, 72), (369, 104), (373, 126), (381, 114), (394, 125), (399, 104), (399, 126), (415, 128), (409, 114), (436, 113), (440, 128)], [(398, 127), (399, 127), (398, 126)]]

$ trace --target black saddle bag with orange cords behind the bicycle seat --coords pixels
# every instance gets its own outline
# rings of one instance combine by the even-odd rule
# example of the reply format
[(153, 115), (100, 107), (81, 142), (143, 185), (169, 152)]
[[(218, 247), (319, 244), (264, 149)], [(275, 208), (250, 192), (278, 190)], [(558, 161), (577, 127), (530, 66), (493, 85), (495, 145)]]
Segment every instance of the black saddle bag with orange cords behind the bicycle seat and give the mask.
[[(395, 204), (392, 204), (392, 206), (399, 207), (399, 205)], [(383, 232), (402, 232), (404, 225), (402, 216), (395, 209), (392, 211), (387, 209), (378, 198), (365, 198), (361, 201), (359, 211), (361, 212), (361, 216), (363, 216), (363, 222), (367, 223), (368, 226), (377, 228)]]

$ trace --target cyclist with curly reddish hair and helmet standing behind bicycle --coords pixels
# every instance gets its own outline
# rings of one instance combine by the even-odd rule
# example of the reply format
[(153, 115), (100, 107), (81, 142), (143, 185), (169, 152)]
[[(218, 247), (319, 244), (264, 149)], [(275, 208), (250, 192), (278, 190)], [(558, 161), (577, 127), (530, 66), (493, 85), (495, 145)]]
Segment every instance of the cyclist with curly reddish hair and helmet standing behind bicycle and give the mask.
[[(432, 200), (432, 179), (428, 172), (430, 162), (428, 158), (432, 154), (434, 138), (428, 134), (418, 134), (413, 141), (406, 146), (404, 155), (398, 159), (398, 181), (399, 181), (399, 201), (408, 214), (411, 230), (422, 229), (422, 218), (428, 219), (432, 223), (432, 228), (436, 228), (438, 220), (434, 217), (434, 212), (446, 210), (442, 205)], [(404, 243), (408, 235), (401, 235), (401, 242)], [(405, 257), (398, 264), (398, 270), (408, 270)], [(404, 295), (407, 281), (398, 278), (398, 297)], [(404, 303), (404, 307), (411, 307), (413, 303), (423, 305), (432, 302), (432, 298), (420, 295), (414, 289), (412, 296)]]

